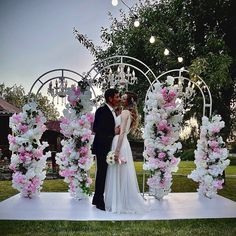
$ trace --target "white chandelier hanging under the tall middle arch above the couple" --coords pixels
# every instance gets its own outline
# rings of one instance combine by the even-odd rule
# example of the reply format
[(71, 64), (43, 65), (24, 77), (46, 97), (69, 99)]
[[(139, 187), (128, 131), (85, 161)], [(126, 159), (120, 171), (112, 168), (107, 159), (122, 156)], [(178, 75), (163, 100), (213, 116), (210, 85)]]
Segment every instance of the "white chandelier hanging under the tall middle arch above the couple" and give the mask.
[(128, 66), (125, 70), (125, 65), (120, 64), (117, 67), (117, 71), (113, 73), (112, 69), (109, 69), (108, 81), (111, 87), (119, 86), (120, 88), (128, 89), (128, 85), (133, 85), (137, 82), (137, 77), (135, 76), (135, 71), (131, 73), (130, 67)]

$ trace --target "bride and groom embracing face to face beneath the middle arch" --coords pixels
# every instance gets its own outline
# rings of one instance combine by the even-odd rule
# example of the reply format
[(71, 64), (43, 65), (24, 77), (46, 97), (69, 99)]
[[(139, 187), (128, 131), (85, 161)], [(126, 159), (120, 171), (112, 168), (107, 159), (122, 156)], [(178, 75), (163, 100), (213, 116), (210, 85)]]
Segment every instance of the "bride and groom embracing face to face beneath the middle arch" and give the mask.
[[(116, 89), (105, 91), (105, 104), (95, 113), (92, 151), (96, 155), (97, 173), (92, 204), (113, 213), (139, 213), (147, 208), (142, 198), (134, 162), (127, 139), (137, 128), (137, 95), (125, 92), (120, 97)], [(122, 111), (115, 112), (120, 107)], [(114, 151), (116, 164), (108, 165), (106, 156)], [(119, 159), (123, 160), (120, 164)]]

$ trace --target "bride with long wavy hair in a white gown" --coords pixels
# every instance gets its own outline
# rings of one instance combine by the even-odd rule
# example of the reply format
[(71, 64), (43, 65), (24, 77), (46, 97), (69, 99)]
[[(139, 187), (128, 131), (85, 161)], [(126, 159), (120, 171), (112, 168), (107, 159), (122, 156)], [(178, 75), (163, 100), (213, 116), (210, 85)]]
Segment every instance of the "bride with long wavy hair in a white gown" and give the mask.
[(137, 128), (137, 96), (126, 92), (121, 97), (123, 111), (116, 117), (116, 126), (120, 125), (120, 134), (112, 141), (116, 162), (108, 165), (105, 183), (105, 208), (113, 213), (142, 213), (147, 205), (142, 198), (127, 134)]

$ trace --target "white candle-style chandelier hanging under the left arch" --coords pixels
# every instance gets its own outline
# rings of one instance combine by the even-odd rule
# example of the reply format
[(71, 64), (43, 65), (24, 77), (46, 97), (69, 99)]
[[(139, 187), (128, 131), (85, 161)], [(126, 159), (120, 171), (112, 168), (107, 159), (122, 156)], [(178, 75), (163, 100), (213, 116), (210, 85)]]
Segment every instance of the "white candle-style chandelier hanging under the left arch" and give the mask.
[(50, 81), (47, 93), (53, 98), (53, 103), (55, 97), (57, 97), (57, 104), (59, 104), (59, 98), (61, 98), (61, 102), (64, 104), (68, 90), (69, 88), (67, 87), (67, 80), (61, 76), (56, 79), (54, 85), (52, 81)]

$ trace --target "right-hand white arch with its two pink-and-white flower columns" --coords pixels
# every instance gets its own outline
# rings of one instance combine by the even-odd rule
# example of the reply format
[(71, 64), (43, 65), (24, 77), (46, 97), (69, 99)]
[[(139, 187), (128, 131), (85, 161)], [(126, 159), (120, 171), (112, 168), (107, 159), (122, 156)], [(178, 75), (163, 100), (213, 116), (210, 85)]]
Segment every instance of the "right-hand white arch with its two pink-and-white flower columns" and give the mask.
[[(212, 97), (206, 83), (199, 76), (190, 77), (187, 70), (175, 69), (158, 76), (145, 99), (144, 170), (150, 171), (147, 184), (157, 199), (171, 192), (172, 172), (178, 170), (180, 162), (176, 154), (182, 148), (178, 139), (186, 111), (184, 103), (191, 107), (195, 88), (202, 96), (202, 126), (195, 151), (196, 170), (188, 177), (199, 182), (199, 193), (209, 198), (222, 188), (222, 174), (229, 164), (225, 143), (219, 135), (224, 122), (220, 116), (211, 117)], [(145, 172), (143, 192), (144, 185)]]

